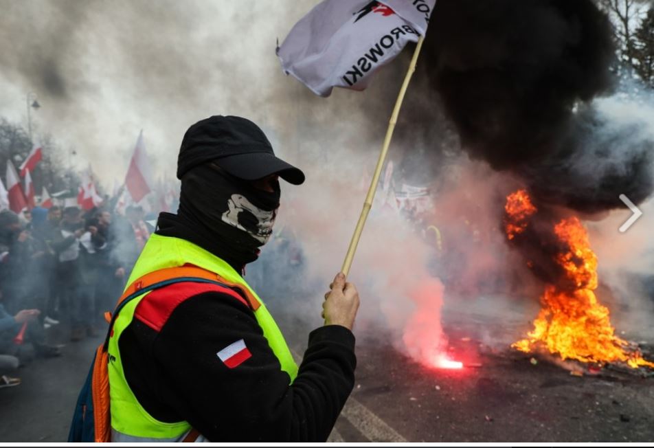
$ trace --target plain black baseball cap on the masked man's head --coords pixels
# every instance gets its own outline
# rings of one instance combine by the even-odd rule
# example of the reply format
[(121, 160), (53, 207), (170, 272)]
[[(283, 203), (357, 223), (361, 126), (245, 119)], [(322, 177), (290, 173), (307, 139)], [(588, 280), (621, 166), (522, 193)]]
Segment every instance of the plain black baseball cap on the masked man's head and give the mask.
[(177, 157), (177, 179), (208, 161), (246, 181), (278, 174), (294, 185), (304, 182), (304, 172), (275, 157), (263, 131), (243, 117), (214, 115), (188, 128)]

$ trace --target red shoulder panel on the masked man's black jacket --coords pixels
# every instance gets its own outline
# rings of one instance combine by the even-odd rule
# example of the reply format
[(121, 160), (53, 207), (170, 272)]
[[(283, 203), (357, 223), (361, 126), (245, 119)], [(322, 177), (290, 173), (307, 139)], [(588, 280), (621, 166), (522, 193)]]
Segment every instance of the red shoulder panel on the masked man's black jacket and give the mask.
[(161, 331), (168, 317), (181, 302), (201, 293), (215, 291), (230, 295), (245, 306), (249, 305), (236, 291), (211, 283), (180, 282), (155, 289), (139, 302), (134, 317), (155, 331)]

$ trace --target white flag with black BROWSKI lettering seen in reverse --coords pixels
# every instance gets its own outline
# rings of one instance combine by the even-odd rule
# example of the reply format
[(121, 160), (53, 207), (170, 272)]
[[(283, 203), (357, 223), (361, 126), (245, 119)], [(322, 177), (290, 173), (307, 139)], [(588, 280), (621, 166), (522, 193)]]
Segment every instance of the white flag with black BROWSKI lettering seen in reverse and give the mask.
[(363, 90), (371, 75), (427, 31), (436, 0), (324, 0), (295, 24), (277, 54), (286, 74), (319, 96)]

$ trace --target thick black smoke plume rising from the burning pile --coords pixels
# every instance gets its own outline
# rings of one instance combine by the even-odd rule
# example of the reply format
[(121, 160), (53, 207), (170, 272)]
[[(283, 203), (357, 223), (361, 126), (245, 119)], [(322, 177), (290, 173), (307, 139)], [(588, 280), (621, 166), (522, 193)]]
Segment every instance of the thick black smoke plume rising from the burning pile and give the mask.
[(528, 188), (539, 213), (512, 243), (534, 273), (561, 284), (554, 224), (567, 214), (641, 203), (652, 148), (592, 100), (612, 93), (613, 30), (591, 0), (438, 0), (422, 65), (462, 147)]

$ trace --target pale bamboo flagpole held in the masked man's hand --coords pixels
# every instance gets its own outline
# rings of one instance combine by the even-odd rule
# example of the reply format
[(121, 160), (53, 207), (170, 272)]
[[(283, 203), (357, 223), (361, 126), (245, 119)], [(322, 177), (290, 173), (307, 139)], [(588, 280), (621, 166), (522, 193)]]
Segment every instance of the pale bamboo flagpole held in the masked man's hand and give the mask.
[(374, 175), (372, 176), (372, 181), (370, 182), (370, 188), (368, 188), (368, 195), (365, 197), (365, 202), (363, 203), (363, 210), (361, 210), (361, 216), (359, 216), (359, 222), (357, 222), (357, 227), (354, 228), (354, 234), (352, 235), (352, 240), (350, 240), (350, 247), (348, 247), (348, 253), (345, 256), (343, 261), (343, 272), (346, 276), (350, 273), (350, 267), (352, 267), (352, 260), (354, 259), (354, 252), (357, 251), (357, 245), (359, 245), (359, 240), (361, 239), (361, 233), (363, 232), (363, 226), (365, 225), (365, 220), (368, 219), (368, 213), (372, 208), (372, 201), (374, 200), (374, 194), (377, 191), (377, 184), (379, 183), (379, 177), (381, 176), (381, 170), (386, 161), (386, 155), (388, 154), (388, 148), (391, 144), (391, 139), (393, 137), (393, 132), (395, 131), (395, 124), (397, 122), (397, 117), (400, 114), (400, 109), (402, 108), (402, 102), (404, 100), (405, 93), (407, 93), (407, 88), (409, 87), (409, 81), (411, 81), (411, 76), (413, 76), (414, 71), (416, 71), (416, 63), (418, 62), (418, 55), (420, 54), (420, 49), (422, 48), (422, 41), (424, 36), (420, 36), (418, 39), (418, 44), (414, 50), (414, 56), (411, 58), (411, 64), (409, 65), (409, 71), (404, 78), (402, 83), (402, 88), (398, 94), (397, 100), (395, 101), (395, 107), (391, 115), (391, 119), (388, 123), (388, 128), (386, 130), (386, 137), (384, 138), (384, 144), (381, 147), (381, 153), (379, 153), (379, 159), (377, 160), (377, 166), (374, 169)]

